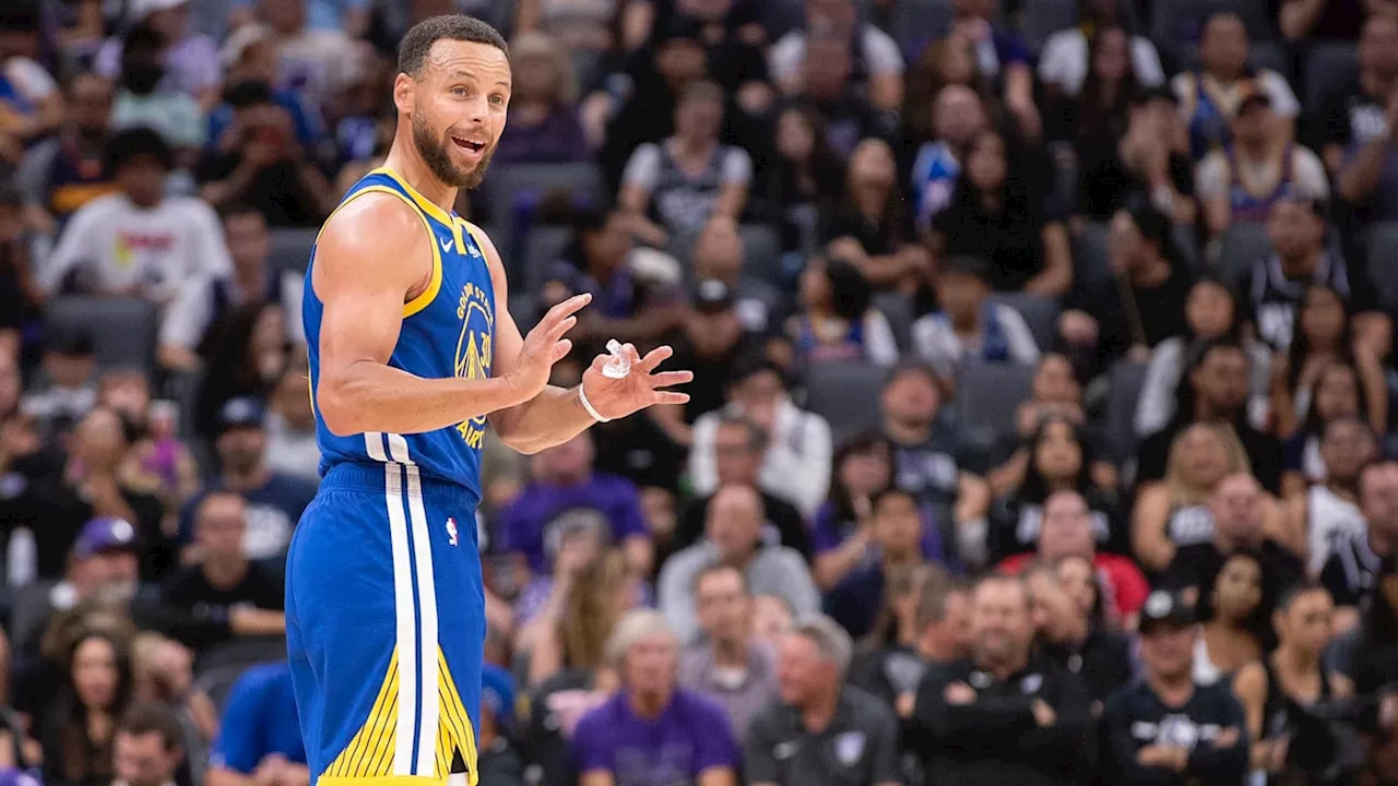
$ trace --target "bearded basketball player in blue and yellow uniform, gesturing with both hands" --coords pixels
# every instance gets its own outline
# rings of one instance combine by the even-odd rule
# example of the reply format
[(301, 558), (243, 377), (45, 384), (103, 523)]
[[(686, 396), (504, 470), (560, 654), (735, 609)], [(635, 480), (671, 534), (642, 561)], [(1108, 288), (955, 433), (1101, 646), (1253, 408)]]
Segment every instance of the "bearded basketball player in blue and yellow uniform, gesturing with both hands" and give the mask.
[(326, 221), (306, 271), (324, 480), (287, 557), (287, 645), (319, 786), (477, 782), (485, 429), (533, 453), (688, 400), (667, 387), (689, 372), (656, 371), (668, 347), (624, 347), (621, 379), (600, 357), (579, 387), (548, 385), (590, 298), (520, 336), (495, 246), (452, 213), (481, 183), (509, 99), (493, 28), (435, 17), (408, 31), (393, 148)]

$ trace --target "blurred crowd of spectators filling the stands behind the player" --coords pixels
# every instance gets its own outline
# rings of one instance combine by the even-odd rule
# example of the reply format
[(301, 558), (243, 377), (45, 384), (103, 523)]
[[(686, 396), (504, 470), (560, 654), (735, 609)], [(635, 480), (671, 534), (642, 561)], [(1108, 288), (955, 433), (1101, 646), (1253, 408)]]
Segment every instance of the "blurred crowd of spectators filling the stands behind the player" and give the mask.
[(0, 1), (0, 780), (310, 786), (303, 271), (443, 13), (554, 382), (696, 375), (487, 441), (481, 786), (1398, 783), (1394, 0)]

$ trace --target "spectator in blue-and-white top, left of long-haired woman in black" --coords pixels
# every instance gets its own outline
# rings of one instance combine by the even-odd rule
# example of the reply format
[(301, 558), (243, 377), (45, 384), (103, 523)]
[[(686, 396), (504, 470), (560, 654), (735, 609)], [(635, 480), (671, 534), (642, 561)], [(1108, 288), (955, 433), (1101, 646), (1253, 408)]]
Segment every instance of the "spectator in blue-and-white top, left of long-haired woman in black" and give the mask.
[(918, 232), (930, 229), (932, 218), (951, 207), (972, 145), (990, 129), (986, 102), (972, 87), (948, 84), (931, 102), (931, 136), (917, 148), (910, 175)]

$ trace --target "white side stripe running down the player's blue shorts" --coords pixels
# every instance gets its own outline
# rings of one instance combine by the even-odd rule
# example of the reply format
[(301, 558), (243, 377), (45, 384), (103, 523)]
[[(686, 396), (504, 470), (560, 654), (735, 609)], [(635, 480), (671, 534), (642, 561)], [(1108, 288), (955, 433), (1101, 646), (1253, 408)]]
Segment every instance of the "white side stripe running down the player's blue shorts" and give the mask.
[[(382, 442), (379, 453), (383, 455)], [(389, 538), (393, 544), (393, 611), (398, 648), (398, 717), (393, 734), (393, 773), (412, 775), (415, 762), (412, 731), (418, 717), (418, 638), (417, 610), (412, 603), (412, 561), (408, 555), (408, 522), (403, 510), (403, 467), (400, 464), (383, 466), (383, 488), (384, 502), (389, 508)]]

